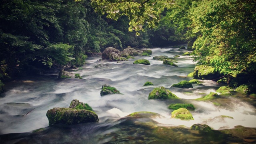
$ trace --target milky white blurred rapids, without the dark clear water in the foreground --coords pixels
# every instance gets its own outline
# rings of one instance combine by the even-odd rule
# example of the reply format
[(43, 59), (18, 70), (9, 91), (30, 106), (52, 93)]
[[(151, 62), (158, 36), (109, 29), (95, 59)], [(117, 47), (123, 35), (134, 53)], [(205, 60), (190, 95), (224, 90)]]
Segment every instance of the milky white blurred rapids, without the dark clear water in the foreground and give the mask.
[[(73, 99), (88, 103), (98, 114), (100, 122), (109, 122), (133, 112), (149, 111), (161, 114), (165, 118), (156, 118), (163, 125), (187, 127), (196, 123), (205, 123), (214, 129), (233, 128), (236, 125), (256, 127), (255, 108), (238, 98), (228, 98), (227, 106), (215, 106), (212, 102), (200, 102), (193, 99), (215, 92), (216, 82), (202, 81), (194, 88), (170, 88), (182, 80), (191, 80), (186, 76), (193, 72), (195, 63), (190, 56), (181, 56), (186, 50), (177, 48), (153, 48), (152, 56), (136, 56), (125, 62), (99, 61), (100, 56), (90, 57), (82, 70), (78, 70), (82, 79), (57, 79), (57, 73), (42, 78), (24, 78), (7, 84), (8, 91), (0, 98), (0, 134), (30, 132), (48, 126), (47, 110), (54, 107), (68, 107)], [(154, 56), (165, 55), (172, 58), (180, 55), (178, 67), (163, 65), (162, 61), (152, 60)], [(148, 59), (149, 66), (133, 64), (137, 59)], [(100, 67), (95, 68), (98, 64)], [(150, 81), (153, 86), (143, 86)], [(103, 84), (116, 87), (122, 94), (100, 96)], [(171, 119), (169, 104), (175, 100), (148, 100), (148, 94), (156, 87), (164, 86), (181, 98), (178, 102), (192, 103), (196, 107), (191, 111), (195, 120), (182, 121)], [(25, 116), (24, 116), (25, 115)], [(223, 118), (218, 116), (231, 116)], [(217, 118), (216, 118), (217, 117)]]

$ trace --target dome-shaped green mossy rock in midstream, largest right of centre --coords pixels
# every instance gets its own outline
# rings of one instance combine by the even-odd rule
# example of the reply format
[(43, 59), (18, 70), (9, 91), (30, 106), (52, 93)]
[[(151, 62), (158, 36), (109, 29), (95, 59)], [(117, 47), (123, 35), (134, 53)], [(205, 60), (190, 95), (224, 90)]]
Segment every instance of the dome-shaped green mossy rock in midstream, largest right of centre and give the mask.
[(170, 90), (166, 90), (163, 86), (159, 88), (154, 88), (152, 92), (148, 94), (148, 99), (169, 99), (169, 98), (176, 98), (178, 97), (175, 94), (172, 94)]

